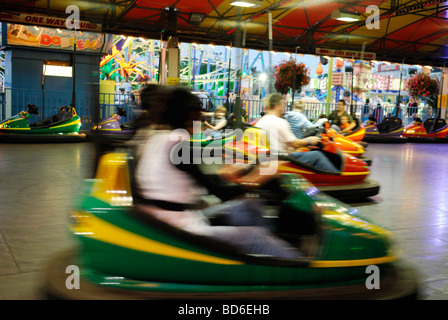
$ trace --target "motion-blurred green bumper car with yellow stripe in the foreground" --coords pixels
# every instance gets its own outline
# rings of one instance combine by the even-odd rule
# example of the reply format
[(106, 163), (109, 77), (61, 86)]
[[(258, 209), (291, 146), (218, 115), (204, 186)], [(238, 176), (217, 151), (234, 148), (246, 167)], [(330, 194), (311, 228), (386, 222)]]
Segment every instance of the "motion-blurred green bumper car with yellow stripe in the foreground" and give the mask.
[[(391, 232), (361, 219), (356, 209), (319, 192), (299, 175), (279, 175), (251, 194), (266, 201), (272, 231), (304, 255), (284, 259), (243, 254), (230, 244), (139, 212), (133, 204), (131, 160), (126, 152), (105, 154), (95, 179), (85, 181), (69, 226), (79, 246), (49, 262), (48, 297), (417, 297), (416, 277), (399, 259)], [(378, 274), (370, 274), (372, 265)], [(76, 289), (67, 285), (69, 266), (80, 270)]]

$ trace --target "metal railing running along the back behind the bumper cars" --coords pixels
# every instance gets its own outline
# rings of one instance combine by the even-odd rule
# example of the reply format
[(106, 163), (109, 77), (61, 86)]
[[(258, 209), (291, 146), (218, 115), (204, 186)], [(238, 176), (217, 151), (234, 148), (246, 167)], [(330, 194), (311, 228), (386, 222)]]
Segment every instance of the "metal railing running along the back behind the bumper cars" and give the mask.
[[(0, 119), (4, 120), (26, 110), (28, 104), (35, 104), (39, 114), (32, 115), (29, 120), (32, 123), (56, 114), (61, 106), (70, 105), (71, 100), (72, 92), (68, 91), (6, 89), (4, 93), (0, 94)], [(201, 102), (207, 111), (214, 111), (220, 105), (225, 106), (228, 112), (235, 111), (235, 102), (229, 100), (227, 103), (226, 97), (210, 97), (202, 99)], [(115, 113), (118, 106), (126, 110), (126, 116), (122, 117), (123, 122), (133, 120), (140, 113), (139, 96), (101, 93), (98, 99), (98, 97), (93, 97), (85, 92), (76, 92), (76, 111), (81, 117), (81, 130), (87, 130), (92, 126), (95, 107), (99, 108), (99, 118), (104, 119)], [(263, 100), (241, 100), (241, 107), (245, 111), (247, 122), (260, 118), (264, 111)], [(336, 103), (305, 103), (303, 113), (308, 119), (315, 120), (322, 114), (328, 116), (336, 108)], [(290, 106), (287, 109), (289, 110)], [(354, 115), (361, 122), (366, 121), (370, 115), (373, 115), (378, 122), (381, 122), (386, 116), (395, 115), (395, 106), (365, 107), (356, 105), (353, 109)], [(425, 121), (427, 118), (433, 117), (434, 114), (430, 108), (408, 109), (408, 107), (401, 107), (399, 117), (404, 124), (412, 122), (414, 116)]]

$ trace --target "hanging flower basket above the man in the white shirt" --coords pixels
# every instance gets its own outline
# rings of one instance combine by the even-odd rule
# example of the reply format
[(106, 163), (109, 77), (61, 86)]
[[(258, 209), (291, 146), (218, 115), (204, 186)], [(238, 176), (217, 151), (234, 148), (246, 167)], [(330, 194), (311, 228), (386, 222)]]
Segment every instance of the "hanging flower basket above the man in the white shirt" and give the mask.
[(287, 94), (291, 89), (300, 92), (310, 83), (309, 73), (304, 63), (292, 59), (282, 61), (274, 67), (275, 90), (281, 94)]

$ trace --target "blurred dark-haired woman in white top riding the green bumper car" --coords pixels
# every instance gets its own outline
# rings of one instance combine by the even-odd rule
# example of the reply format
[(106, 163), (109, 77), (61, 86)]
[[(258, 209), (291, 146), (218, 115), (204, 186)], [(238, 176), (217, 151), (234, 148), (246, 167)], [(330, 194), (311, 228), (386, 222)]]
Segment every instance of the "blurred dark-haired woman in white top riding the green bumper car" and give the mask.
[[(244, 184), (229, 184), (217, 175), (204, 175), (189, 152), (193, 122), (200, 121), (200, 101), (190, 92), (161, 87), (156, 94), (142, 94), (149, 109), (151, 126), (139, 144), (136, 166), (136, 206), (166, 223), (189, 232), (232, 244), (241, 252), (297, 258), (301, 254), (264, 227), (261, 205), (238, 199), (248, 190)], [(145, 106), (146, 104), (146, 106)], [(238, 170), (237, 170), (238, 171)], [(247, 180), (263, 183), (266, 176)], [(247, 184), (246, 186), (248, 186)], [(198, 210), (200, 197), (212, 193), (224, 202)], [(211, 226), (206, 214), (225, 212), (226, 226)]]

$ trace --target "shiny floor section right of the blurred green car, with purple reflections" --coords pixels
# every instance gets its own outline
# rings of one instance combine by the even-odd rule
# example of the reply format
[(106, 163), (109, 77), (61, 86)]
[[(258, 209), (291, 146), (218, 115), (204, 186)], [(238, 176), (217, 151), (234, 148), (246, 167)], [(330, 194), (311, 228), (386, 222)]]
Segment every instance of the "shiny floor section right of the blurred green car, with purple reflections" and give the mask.
[(393, 231), (419, 272), (423, 299), (448, 299), (448, 145), (371, 143), (367, 155), (380, 194), (352, 206)]

